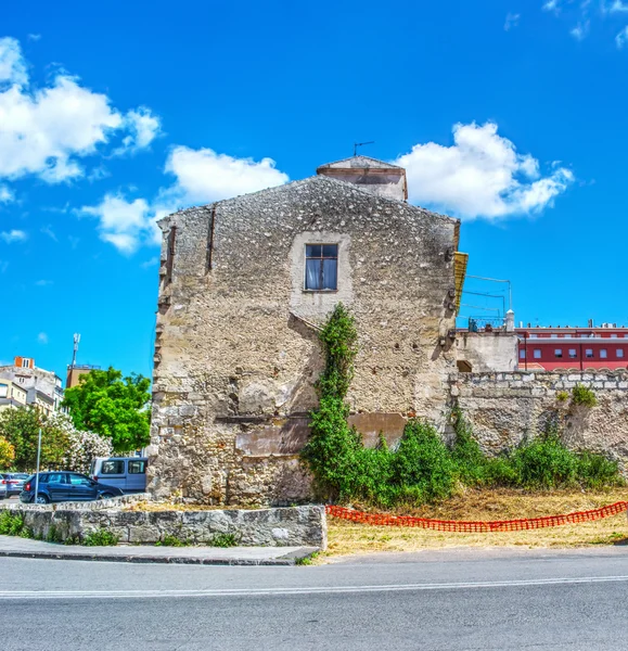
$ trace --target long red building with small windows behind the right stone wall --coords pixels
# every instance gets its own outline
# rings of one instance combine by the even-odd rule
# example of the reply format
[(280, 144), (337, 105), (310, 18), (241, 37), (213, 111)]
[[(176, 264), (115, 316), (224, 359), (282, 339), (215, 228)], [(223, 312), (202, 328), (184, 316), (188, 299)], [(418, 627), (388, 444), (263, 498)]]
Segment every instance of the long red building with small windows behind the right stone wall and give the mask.
[(603, 323), (589, 328), (556, 326), (516, 328), (520, 371), (625, 369), (628, 328)]

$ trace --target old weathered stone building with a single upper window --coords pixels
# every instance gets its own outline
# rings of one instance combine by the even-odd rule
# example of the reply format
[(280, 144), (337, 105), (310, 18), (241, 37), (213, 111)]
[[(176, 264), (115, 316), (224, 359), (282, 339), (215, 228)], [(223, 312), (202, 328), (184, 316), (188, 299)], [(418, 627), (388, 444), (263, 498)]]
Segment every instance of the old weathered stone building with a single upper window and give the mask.
[(367, 443), (409, 416), (444, 421), (466, 257), (459, 221), (407, 195), (402, 168), (355, 156), (159, 222), (156, 496), (307, 499), (318, 328), (338, 302), (359, 332), (348, 399)]

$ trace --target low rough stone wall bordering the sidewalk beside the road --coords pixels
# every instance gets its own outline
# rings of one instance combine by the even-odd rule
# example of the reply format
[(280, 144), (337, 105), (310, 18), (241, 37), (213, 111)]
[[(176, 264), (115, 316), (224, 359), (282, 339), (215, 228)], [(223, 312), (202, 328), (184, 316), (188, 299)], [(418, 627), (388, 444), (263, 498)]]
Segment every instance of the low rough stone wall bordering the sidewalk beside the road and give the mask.
[(22, 515), (25, 525), (37, 537), (46, 538), (54, 526), (61, 540), (82, 538), (104, 528), (118, 536), (120, 544), (130, 545), (154, 544), (167, 535), (206, 545), (218, 534), (233, 534), (238, 545), (243, 547), (326, 548), (325, 511), (320, 506), (225, 511), (129, 511), (115, 502), (0, 503), (0, 510)]

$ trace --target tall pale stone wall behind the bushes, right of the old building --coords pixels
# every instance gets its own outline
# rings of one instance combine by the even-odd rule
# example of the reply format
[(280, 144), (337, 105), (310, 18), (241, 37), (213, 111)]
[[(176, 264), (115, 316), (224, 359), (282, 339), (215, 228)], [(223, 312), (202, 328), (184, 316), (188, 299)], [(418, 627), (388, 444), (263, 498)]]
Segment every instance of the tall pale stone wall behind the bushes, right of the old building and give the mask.
[[(593, 391), (598, 405), (578, 407), (557, 394), (581, 384)], [(573, 449), (602, 452), (628, 472), (628, 372), (456, 373), (450, 392), (480, 446), (499, 454), (524, 437), (544, 431), (559, 419), (565, 443)]]

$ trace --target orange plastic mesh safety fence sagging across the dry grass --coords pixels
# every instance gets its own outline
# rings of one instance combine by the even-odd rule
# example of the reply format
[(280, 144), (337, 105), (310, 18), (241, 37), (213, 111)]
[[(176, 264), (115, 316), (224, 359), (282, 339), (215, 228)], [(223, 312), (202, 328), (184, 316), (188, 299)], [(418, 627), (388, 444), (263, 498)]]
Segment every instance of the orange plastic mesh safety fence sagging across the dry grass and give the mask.
[(458, 533), (485, 533), (485, 532), (521, 532), (523, 529), (542, 528), (546, 526), (560, 526), (562, 524), (577, 524), (592, 522), (611, 515), (617, 515), (628, 509), (628, 501), (618, 501), (607, 507), (590, 511), (576, 511), (565, 515), (547, 515), (544, 518), (523, 518), (521, 520), (495, 520), (492, 522), (464, 522), (460, 520), (430, 520), (427, 518), (413, 518), (411, 515), (390, 515), (388, 513), (364, 513), (328, 505), (325, 512), (332, 518), (341, 518), (350, 522), (374, 524), (376, 526), (415, 526), (435, 529), (437, 532)]

